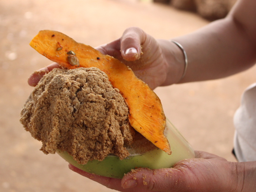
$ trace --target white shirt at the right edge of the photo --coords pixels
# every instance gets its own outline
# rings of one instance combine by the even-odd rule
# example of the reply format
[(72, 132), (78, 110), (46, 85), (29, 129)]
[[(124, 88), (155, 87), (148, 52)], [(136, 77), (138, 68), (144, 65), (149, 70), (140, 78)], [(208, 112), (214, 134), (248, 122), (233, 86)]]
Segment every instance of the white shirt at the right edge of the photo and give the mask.
[(234, 150), (238, 162), (256, 161), (256, 83), (242, 94), (234, 115)]

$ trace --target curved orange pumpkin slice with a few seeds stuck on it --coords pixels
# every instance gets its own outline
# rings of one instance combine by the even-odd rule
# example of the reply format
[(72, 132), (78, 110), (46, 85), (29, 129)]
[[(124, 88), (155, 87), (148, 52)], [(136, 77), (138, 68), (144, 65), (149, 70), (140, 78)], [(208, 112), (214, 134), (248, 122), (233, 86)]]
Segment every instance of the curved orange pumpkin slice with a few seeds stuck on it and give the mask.
[(155, 146), (171, 154), (169, 142), (163, 134), (166, 118), (160, 99), (124, 63), (57, 31), (39, 31), (30, 46), (68, 69), (97, 67), (105, 72), (128, 104), (131, 126)]

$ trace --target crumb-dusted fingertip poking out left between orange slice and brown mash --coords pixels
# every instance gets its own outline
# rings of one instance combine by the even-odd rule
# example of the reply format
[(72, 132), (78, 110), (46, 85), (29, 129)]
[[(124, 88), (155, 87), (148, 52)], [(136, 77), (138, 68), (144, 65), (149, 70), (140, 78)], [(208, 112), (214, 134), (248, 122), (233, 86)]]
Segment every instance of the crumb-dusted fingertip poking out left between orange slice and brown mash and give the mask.
[(35, 87), (39, 80), (49, 71), (52, 71), (54, 68), (60, 68), (60, 65), (57, 63), (52, 63), (44, 68), (41, 68), (37, 71), (34, 71), (33, 74), (30, 75), (29, 79), (27, 82), (29, 83), (30, 86)]

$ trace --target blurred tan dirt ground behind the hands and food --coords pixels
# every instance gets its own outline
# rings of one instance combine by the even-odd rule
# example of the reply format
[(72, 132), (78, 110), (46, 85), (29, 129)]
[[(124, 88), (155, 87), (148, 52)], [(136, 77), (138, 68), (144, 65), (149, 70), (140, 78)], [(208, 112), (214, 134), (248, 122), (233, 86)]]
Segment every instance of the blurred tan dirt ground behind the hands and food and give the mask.
[[(139, 0), (0, 0), (0, 191), (110, 192), (68, 169), (58, 155), (45, 155), (19, 123), (33, 87), (29, 75), (52, 63), (29, 46), (39, 30), (61, 31), (91, 46), (113, 41), (130, 26), (155, 38), (187, 34), (208, 21), (167, 5)], [(167, 118), (196, 150), (229, 161), (233, 119), (242, 91), (255, 81), (256, 68), (207, 82), (155, 90)]]

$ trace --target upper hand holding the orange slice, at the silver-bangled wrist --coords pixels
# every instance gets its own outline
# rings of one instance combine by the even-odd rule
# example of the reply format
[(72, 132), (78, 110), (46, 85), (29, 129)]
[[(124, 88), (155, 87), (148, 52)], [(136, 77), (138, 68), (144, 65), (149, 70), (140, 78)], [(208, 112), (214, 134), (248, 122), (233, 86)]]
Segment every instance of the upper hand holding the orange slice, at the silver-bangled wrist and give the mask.
[[(95, 49), (122, 61), (133, 70), (138, 78), (155, 89), (160, 85), (177, 83), (181, 77), (184, 66), (177, 67), (175, 65), (176, 57), (169, 54), (169, 49), (172, 46), (174, 50), (180, 51), (170, 41), (156, 40), (143, 30), (131, 27), (125, 30), (117, 40)], [(172, 65), (169, 64), (170, 61), (174, 61), (171, 62)], [(59, 66), (55, 63), (34, 72), (28, 80), (29, 84), (35, 86), (45, 73), (55, 67)], [(171, 75), (168, 75), (169, 71), (172, 71)], [(168, 83), (165, 83), (167, 79)]]

